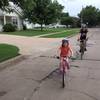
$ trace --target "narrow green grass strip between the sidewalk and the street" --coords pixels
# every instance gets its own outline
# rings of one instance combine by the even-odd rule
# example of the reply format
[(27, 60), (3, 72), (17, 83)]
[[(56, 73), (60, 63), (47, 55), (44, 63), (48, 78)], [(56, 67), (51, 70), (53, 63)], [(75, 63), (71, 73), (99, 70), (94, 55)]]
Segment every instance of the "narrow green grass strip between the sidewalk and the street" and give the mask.
[(45, 38), (63, 38), (63, 37), (73, 36), (73, 35), (78, 34), (78, 33), (79, 33), (79, 29), (72, 29), (70, 31), (67, 30), (66, 32), (47, 35), (47, 36), (43, 36), (43, 37), (45, 37)]

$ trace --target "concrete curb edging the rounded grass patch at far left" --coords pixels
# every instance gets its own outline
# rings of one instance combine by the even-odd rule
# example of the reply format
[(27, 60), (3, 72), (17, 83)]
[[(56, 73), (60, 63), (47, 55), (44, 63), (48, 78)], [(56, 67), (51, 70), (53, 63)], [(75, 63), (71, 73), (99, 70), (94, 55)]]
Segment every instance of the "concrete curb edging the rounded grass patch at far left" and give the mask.
[(20, 55), (20, 56), (17, 56), (15, 58), (4, 61), (4, 62), (0, 63), (0, 71), (7, 68), (7, 67), (16, 65), (16, 64), (20, 63), (21, 61), (23, 61), (25, 59), (27, 59), (27, 56)]

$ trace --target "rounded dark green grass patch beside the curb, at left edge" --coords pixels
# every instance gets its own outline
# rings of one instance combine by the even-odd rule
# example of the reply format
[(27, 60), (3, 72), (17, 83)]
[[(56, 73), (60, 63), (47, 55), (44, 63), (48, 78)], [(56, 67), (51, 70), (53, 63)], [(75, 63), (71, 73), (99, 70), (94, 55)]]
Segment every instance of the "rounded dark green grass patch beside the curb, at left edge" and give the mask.
[(0, 62), (19, 55), (19, 49), (8, 44), (0, 44)]

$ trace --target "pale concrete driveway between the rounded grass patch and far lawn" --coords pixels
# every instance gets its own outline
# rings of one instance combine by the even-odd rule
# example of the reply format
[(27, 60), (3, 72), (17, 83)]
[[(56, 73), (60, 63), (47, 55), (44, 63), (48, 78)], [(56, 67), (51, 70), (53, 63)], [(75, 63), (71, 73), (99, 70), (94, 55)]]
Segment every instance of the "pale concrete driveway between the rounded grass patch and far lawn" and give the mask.
[(20, 49), (20, 54), (22, 55), (32, 55), (43, 51), (45, 52), (52, 47), (55, 47), (58, 41), (59, 39), (0, 34), (0, 43), (7, 43), (17, 46)]

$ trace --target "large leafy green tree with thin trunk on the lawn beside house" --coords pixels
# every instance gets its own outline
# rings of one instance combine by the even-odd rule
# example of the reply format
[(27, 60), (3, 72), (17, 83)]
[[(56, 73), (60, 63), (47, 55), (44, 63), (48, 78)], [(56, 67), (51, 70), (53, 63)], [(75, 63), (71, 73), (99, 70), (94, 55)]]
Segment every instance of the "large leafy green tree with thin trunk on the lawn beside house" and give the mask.
[(30, 22), (39, 23), (41, 30), (43, 30), (43, 24), (48, 25), (53, 22), (57, 22), (61, 16), (63, 6), (61, 6), (56, 0), (35, 0), (35, 6), (33, 10), (24, 12), (25, 17)]

